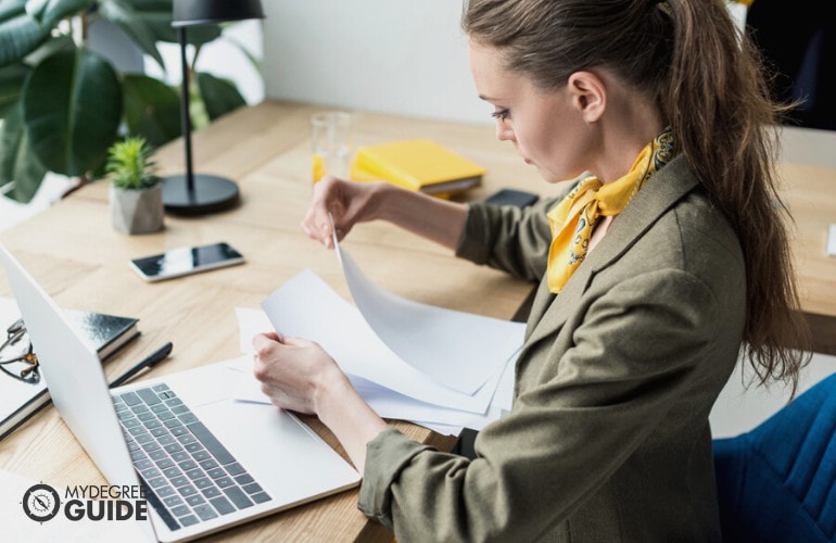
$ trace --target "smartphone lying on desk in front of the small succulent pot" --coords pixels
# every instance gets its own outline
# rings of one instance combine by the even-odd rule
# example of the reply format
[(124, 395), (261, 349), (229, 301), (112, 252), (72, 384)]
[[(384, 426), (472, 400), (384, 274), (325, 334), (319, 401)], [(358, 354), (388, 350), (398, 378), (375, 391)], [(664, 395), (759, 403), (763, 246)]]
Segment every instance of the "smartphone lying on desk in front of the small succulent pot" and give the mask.
[(161, 254), (130, 261), (130, 266), (147, 281), (162, 281), (242, 264), (244, 257), (229, 243), (172, 249)]

